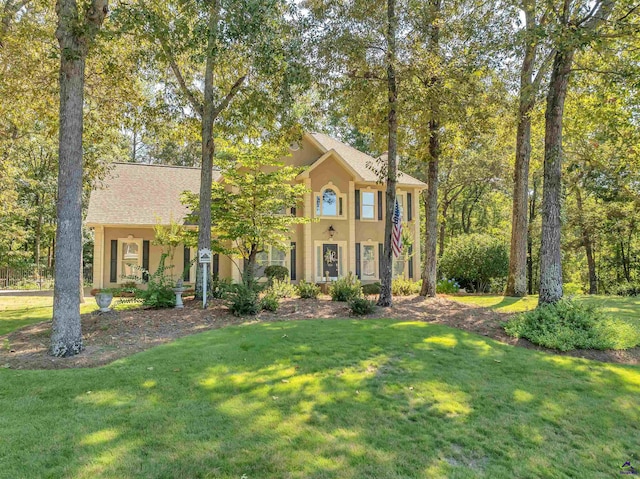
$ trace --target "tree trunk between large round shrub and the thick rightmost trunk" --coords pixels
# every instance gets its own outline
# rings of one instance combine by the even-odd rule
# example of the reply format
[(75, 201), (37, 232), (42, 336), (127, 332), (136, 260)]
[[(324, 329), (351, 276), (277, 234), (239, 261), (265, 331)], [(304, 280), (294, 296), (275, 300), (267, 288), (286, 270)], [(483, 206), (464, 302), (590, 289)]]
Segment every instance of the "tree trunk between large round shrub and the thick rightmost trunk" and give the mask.
[[(534, 2), (524, 2), (527, 33), (535, 28)], [(529, 161), (531, 159), (531, 112), (535, 106), (536, 90), (533, 69), (538, 44), (526, 37), (525, 54), (520, 70), (518, 128), (516, 133), (516, 163), (513, 172), (513, 210), (511, 214), (511, 251), (507, 296), (524, 296), (527, 292), (527, 206), (529, 193)]]

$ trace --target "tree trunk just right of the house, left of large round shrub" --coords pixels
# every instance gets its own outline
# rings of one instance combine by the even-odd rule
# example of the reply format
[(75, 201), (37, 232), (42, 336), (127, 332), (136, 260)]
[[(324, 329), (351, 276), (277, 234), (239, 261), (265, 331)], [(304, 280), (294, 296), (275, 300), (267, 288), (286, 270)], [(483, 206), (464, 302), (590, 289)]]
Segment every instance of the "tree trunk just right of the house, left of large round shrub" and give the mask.
[[(432, 7), (432, 18), (429, 34), (429, 49), (434, 54), (439, 54), (440, 47), (440, 9), (441, 0), (430, 0)], [(440, 83), (438, 75), (430, 79), (430, 85), (435, 87)], [(440, 158), (440, 122), (438, 99), (434, 92), (430, 92), (430, 114), (429, 120), (429, 167), (427, 175), (427, 196), (426, 196), (426, 232), (425, 232), (425, 263), (422, 272), (421, 296), (435, 297), (437, 283), (438, 257), (438, 160)]]

